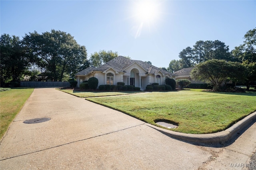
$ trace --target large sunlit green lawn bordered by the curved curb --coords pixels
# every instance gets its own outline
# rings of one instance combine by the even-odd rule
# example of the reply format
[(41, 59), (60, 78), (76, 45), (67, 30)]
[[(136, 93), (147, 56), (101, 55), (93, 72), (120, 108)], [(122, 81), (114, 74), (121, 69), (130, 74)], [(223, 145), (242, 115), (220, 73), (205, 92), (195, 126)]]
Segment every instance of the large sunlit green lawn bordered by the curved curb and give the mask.
[[(202, 89), (201, 89), (202, 90)], [(256, 92), (218, 93), (199, 89), (151, 92), (86, 100), (111, 107), (147, 123), (164, 119), (182, 133), (215, 133), (256, 111)], [(158, 125), (157, 125), (158, 126)]]

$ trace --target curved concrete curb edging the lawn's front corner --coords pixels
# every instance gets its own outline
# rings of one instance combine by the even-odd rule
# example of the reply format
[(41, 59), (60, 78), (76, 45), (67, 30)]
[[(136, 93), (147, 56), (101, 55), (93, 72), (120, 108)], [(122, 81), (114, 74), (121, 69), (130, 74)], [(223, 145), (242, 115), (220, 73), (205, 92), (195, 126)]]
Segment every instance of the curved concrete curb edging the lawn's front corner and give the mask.
[(232, 125), (228, 129), (210, 134), (188, 134), (188, 133), (180, 133), (167, 129), (163, 129), (161, 127), (157, 127), (146, 123), (147, 126), (152, 127), (165, 135), (170, 137), (174, 137), (176, 139), (181, 139), (186, 142), (196, 142), (196, 143), (204, 143), (204, 144), (224, 144), (231, 138), (233, 138), (240, 130), (244, 127), (252, 123), (256, 120), (256, 111), (246, 116), (244, 119), (238, 121), (236, 124)]

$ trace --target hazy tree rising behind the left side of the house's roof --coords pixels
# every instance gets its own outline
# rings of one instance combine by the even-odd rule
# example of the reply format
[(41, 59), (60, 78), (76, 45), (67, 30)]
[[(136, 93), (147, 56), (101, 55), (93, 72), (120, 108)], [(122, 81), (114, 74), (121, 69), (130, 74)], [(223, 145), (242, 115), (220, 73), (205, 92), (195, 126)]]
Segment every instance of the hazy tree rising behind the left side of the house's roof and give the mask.
[(100, 50), (99, 52), (94, 52), (91, 54), (90, 63), (94, 67), (99, 67), (116, 57), (118, 57), (118, 52), (113, 52), (112, 50)]

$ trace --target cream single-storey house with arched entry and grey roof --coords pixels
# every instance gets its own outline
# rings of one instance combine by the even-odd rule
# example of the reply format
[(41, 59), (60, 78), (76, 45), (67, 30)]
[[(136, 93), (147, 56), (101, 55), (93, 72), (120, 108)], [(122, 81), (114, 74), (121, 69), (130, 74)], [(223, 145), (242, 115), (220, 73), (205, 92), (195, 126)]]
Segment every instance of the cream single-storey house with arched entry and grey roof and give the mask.
[(148, 84), (165, 84), (165, 79), (175, 78), (166, 70), (150, 65), (143, 61), (130, 60), (118, 56), (98, 68), (90, 66), (75, 75), (79, 85), (90, 77), (98, 78), (99, 84), (116, 85), (117, 82), (124, 82), (125, 85), (134, 85), (140, 88), (146, 88)]

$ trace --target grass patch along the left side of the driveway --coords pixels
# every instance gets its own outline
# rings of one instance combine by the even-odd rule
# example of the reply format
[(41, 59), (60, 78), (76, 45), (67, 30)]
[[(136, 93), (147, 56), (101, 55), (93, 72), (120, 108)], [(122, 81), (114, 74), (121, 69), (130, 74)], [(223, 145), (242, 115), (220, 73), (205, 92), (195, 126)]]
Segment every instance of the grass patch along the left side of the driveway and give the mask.
[(0, 92), (0, 139), (20, 112), (34, 88), (13, 88)]

